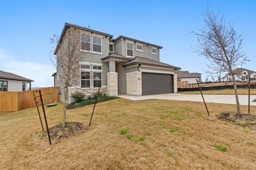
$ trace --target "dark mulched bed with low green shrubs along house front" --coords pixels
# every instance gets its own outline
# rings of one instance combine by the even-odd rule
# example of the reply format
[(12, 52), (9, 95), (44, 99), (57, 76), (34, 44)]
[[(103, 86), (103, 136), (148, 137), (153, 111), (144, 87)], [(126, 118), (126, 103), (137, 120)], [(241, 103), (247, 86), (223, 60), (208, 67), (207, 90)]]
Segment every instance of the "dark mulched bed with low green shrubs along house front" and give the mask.
[[(103, 101), (113, 100), (113, 99), (117, 99), (117, 98), (118, 97), (115, 97), (115, 96), (99, 96), (97, 103), (101, 103)], [(81, 101), (80, 103), (71, 103), (71, 104), (67, 105), (67, 109), (81, 108), (81, 107), (84, 107), (86, 105), (94, 104), (95, 100), (96, 100), (96, 98), (86, 99), (86, 100)]]

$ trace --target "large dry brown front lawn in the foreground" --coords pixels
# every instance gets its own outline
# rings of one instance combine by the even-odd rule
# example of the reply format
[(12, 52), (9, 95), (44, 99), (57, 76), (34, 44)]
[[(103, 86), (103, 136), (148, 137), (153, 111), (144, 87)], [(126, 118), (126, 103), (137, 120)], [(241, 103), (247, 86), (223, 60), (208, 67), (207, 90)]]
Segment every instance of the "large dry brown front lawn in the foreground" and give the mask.
[[(208, 105), (210, 114), (236, 111)], [(61, 106), (46, 109), (50, 127), (61, 120)], [(91, 111), (92, 105), (69, 110), (67, 120), (88, 125)], [(0, 113), (0, 125), (0, 169), (256, 169), (255, 129), (207, 117), (198, 102), (106, 101), (88, 131), (52, 146), (42, 138), (36, 108)], [(130, 139), (119, 134), (123, 128)]]

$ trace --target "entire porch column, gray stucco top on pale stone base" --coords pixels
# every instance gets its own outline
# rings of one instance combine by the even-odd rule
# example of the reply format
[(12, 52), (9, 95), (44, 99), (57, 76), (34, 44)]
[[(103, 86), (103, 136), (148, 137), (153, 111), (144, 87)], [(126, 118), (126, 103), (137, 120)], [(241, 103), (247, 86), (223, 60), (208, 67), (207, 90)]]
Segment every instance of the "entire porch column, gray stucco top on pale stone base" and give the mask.
[(108, 95), (118, 95), (118, 73), (115, 72), (115, 61), (109, 61), (109, 73), (108, 74)]

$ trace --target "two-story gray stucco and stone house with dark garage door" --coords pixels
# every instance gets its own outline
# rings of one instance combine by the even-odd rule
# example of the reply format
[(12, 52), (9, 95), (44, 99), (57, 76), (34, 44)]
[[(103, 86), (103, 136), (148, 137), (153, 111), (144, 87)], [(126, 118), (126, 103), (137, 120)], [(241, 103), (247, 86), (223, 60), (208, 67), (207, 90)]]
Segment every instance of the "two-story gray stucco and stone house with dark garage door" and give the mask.
[[(162, 46), (141, 40), (131, 39), (79, 27), (65, 23), (60, 36), (60, 45), (55, 49), (59, 55), (59, 48), (65, 43), (65, 32), (68, 29), (79, 28), (81, 38), (80, 52), (89, 52), (80, 62), (79, 83), (75, 87), (87, 91), (96, 91), (98, 87), (105, 89), (110, 96), (154, 95), (177, 92), (177, 77), (174, 73), (179, 67), (159, 62)], [(86, 37), (86, 38), (84, 38)], [(55, 86), (63, 88), (59, 79), (60, 71), (57, 67), (54, 76)], [(69, 96), (76, 88), (69, 87)], [(61, 96), (63, 100), (63, 96)], [(69, 97), (69, 102), (71, 99)]]

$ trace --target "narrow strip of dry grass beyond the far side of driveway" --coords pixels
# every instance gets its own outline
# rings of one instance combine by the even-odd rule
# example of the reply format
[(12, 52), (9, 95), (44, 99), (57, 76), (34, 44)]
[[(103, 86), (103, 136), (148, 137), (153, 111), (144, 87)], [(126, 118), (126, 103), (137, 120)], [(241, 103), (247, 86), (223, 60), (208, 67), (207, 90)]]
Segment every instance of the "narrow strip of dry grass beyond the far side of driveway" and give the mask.
[[(256, 88), (251, 89), (251, 95), (256, 95)], [(179, 94), (193, 94), (193, 95), (200, 95), (200, 91), (184, 91), (179, 92)], [(207, 90), (203, 91), (204, 95), (234, 95), (233, 89), (223, 89), (223, 90)], [(238, 88), (239, 95), (248, 95), (248, 89), (245, 88)]]

